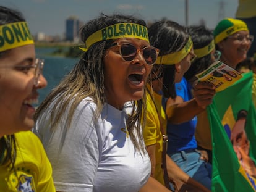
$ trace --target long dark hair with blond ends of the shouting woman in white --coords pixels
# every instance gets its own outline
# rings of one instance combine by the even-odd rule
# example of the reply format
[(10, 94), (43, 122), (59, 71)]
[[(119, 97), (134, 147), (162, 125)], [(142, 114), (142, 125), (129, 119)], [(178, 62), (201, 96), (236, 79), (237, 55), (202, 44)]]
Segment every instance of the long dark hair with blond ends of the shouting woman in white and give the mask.
[[(133, 16), (108, 16), (101, 14), (100, 17), (90, 20), (80, 29), (82, 42), (85, 42), (88, 36), (92, 35), (96, 31), (116, 23), (137, 23), (146, 26), (146, 23), (143, 20), (136, 19)], [(67, 107), (70, 105), (68, 119), (66, 120), (67, 123), (64, 125), (64, 129), (66, 131), (70, 127), (76, 107), (84, 98), (87, 97), (92, 98), (93, 102), (96, 103), (97, 111), (95, 116), (98, 117), (103, 109), (103, 104), (106, 102), (103, 59), (105, 52), (113, 42), (114, 40), (102, 40), (92, 44), (88, 48), (87, 52), (83, 54), (82, 59), (80, 59), (80, 61), (75, 65), (74, 69), (41, 103), (36, 110), (35, 120), (38, 119), (38, 117), (43, 114), (43, 112), (48, 109), (50, 104), (54, 101), (53, 110), (50, 112), (51, 128), (54, 130), (58, 123), (61, 123), (62, 115), (64, 115)], [(135, 110), (134, 102), (134, 109), (127, 120), (127, 130), (129, 131), (130, 138), (134, 143), (135, 148), (140, 151), (144, 146), (140, 126), (142, 125), (143, 127), (145, 125), (146, 115), (142, 115), (142, 111), (146, 111), (145, 109), (142, 109), (145, 107), (145, 99), (142, 98), (136, 102), (137, 110)], [(135, 126), (136, 122), (138, 122), (137, 127)], [(137, 135), (134, 133), (134, 128), (137, 128)], [(62, 138), (65, 138), (65, 131)]]

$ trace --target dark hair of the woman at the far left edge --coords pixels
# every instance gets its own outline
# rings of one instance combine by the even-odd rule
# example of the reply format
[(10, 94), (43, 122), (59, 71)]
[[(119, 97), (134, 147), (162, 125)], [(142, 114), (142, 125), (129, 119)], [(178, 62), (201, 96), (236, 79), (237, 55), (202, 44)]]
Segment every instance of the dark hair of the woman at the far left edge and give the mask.
[[(25, 19), (18, 10), (0, 6), (0, 25), (5, 25), (7, 23), (14, 23), (14, 22), (23, 22), (23, 21), (25, 21)], [(0, 57), (2, 57), (2, 55), (5, 52), (7, 51), (0, 52)], [(6, 157), (4, 156), (5, 151), (7, 152)], [(5, 158), (1, 159), (1, 157), (5, 157)], [(0, 138), (0, 165), (8, 162), (9, 164), (12, 165), (11, 168), (13, 169), (15, 159), (16, 159), (16, 142), (15, 142), (14, 134), (2, 136), (2, 138)]]

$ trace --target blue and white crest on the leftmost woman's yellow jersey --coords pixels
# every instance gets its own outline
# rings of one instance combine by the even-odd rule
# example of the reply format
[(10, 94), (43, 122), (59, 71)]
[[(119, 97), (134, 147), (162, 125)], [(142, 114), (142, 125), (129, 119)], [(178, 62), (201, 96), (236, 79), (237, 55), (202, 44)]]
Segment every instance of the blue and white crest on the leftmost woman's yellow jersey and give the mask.
[(28, 177), (27, 175), (20, 175), (17, 191), (18, 192), (36, 192), (33, 177)]

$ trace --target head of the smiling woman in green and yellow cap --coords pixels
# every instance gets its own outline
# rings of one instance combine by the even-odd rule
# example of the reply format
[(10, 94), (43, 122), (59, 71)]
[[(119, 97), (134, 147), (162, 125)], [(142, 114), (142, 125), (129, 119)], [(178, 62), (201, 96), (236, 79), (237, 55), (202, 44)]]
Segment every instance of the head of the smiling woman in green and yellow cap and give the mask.
[(254, 40), (245, 22), (239, 19), (226, 18), (216, 25), (213, 31), (216, 49), (221, 52), (220, 61), (236, 69), (244, 61)]

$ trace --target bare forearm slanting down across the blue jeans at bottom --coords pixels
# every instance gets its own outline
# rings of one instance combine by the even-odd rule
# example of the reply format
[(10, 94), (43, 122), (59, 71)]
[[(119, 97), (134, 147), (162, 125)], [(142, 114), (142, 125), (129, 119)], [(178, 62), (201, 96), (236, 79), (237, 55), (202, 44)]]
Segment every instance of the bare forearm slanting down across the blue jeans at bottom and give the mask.
[[(166, 164), (168, 177), (172, 178), (179, 188), (179, 190), (184, 188), (183, 184), (186, 184), (187, 190), (195, 191), (205, 191), (210, 192), (205, 186), (195, 181), (193, 178), (189, 177), (181, 168), (177, 166), (175, 162), (166, 154)], [(190, 189), (189, 189), (190, 188)]]

